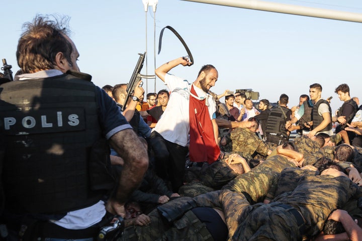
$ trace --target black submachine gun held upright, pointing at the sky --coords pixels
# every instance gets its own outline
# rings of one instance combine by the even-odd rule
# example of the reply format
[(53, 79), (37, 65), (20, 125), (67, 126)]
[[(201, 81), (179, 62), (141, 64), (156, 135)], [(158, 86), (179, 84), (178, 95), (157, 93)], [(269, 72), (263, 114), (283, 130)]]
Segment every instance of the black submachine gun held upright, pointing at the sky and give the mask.
[[(123, 106), (122, 106), (122, 111), (124, 111), (126, 109), (126, 104), (128, 102), (128, 99), (130, 98), (130, 96), (133, 96), (133, 92), (134, 92), (134, 89), (136, 88), (136, 84), (141, 80), (141, 78), (146, 78), (146, 79), (154, 79), (154, 78), (156, 78), (156, 76), (154, 76), (154, 75), (142, 75), (142, 74), (140, 74), (141, 69), (143, 67), (143, 62), (144, 62), (144, 58), (146, 56), (146, 52), (144, 52), (144, 54), (139, 53), (139, 56), (140, 57), (139, 57), (139, 59), (137, 61), (135, 69), (133, 70), (133, 74), (131, 76), (131, 79), (127, 84), (127, 89), (126, 89), (127, 95), (126, 95), (125, 102), (123, 103)], [(143, 84), (143, 82), (140, 83), (139, 87), (141, 87), (142, 84)]]

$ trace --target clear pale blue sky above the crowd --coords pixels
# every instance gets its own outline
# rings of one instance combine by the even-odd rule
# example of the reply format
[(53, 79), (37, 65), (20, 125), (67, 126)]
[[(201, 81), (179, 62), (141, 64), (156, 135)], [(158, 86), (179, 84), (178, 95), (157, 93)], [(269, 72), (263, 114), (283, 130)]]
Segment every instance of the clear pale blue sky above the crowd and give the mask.
[[(362, 1), (357, 0), (274, 2), (362, 13)], [(342, 102), (334, 89), (347, 83), (351, 96), (362, 101), (360, 23), (179, 0), (159, 0), (155, 16), (151, 8), (144, 12), (141, 0), (15, 0), (2, 1), (1, 8), (0, 58), (13, 65), (14, 73), (19, 69), (15, 53), (22, 24), (32, 21), (36, 14), (61, 14), (71, 18), (70, 37), (80, 53), (80, 70), (93, 75), (93, 82), (100, 87), (126, 83), (137, 53), (146, 50), (147, 16), (148, 74), (154, 70), (155, 17), (156, 46), (161, 29), (169, 25), (184, 38), (195, 59), (193, 66), (177, 66), (170, 73), (192, 82), (202, 65), (213, 64), (219, 80), (211, 90), (218, 94), (225, 89), (251, 88), (259, 91), (260, 99), (275, 102), (286, 93), (292, 106), (300, 94), (308, 94), (310, 84), (320, 83), (322, 97), (333, 96), (335, 110)], [(156, 67), (185, 55), (182, 44), (165, 30), (161, 53), (155, 56)], [(146, 64), (142, 74), (146, 74)], [(147, 82), (145, 90), (154, 92), (154, 80)], [(157, 78), (156, 92), (161, 88), (164, 85)]]

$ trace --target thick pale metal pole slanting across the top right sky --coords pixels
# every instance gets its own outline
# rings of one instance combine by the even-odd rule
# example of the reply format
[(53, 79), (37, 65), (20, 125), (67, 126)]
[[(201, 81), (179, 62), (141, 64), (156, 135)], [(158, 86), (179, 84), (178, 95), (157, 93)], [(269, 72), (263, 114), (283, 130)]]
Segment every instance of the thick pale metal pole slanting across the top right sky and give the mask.
[(310, 7), (303, 7), (296, 5), (288, 5), (288, 4), (271, 3), (271, 2), (264, 2), (258, 0), (183, 0), (183, 1), (362, 23), (362, 14), (327, 10), (327, 9), (317, 9), (317, 8), (310, 8)]

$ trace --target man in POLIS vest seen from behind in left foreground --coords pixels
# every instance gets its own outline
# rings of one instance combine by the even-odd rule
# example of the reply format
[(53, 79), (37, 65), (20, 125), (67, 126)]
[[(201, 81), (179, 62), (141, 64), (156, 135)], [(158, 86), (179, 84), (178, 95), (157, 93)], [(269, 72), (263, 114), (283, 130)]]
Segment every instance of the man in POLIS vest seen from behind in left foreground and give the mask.
[[(17, 49), (23, 74), (1, 86), (0, 222), (8, 240), (93, 240), (109, 225), (107, 211), (124, 213), (148, 167), (116, 103), (78, 72), (67, 20), (38, 15), (26, 23)], [(124, 160), (118, 180), (109, 144)]]

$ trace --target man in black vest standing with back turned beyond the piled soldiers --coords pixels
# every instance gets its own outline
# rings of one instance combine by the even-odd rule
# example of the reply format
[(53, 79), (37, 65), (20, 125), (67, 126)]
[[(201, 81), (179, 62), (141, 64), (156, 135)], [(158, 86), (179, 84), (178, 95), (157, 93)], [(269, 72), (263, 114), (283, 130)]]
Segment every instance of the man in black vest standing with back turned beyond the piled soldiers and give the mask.
[(292, 111), (287, 107), (289, 97), (281, 94), (278, 106), (270, 110), (266, 123), (266, 142), (272, 142), (277, 145), (284, 144), (289, 140), (289, 132), (286, 129), (286, 123), (291, 120)]

